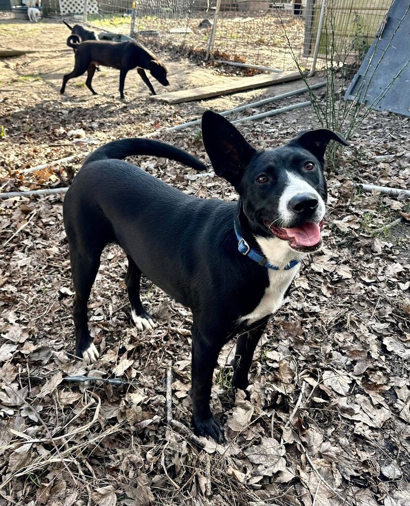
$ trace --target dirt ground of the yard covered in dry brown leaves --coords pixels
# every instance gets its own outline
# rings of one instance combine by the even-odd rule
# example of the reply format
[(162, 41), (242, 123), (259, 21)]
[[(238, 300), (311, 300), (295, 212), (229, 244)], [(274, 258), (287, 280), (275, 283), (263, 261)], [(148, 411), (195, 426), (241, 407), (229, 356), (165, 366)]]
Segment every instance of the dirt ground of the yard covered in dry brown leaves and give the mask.
[[(61, 186), (78, 162), (63, 164), (61, 173), (57, 165), (26, 177), (18, 171), (155, 131), (209, 164), (197, 128), (162, 129), (207, 108), (226, 110), (302, 87), (295, 81), (171, 106), (152, 101), (131, 71), (122, 102), (118, 72), (102, 68), (94, 80), (100, 95), (93, 97), (79, 77), (60, 96), (73, 64), (66, 36), (56, 21), (0, 20), (1, 48), (42, 50), (0, 59), (3, 192)], [(153, 81), (158, 93), (227, 78), (170, 52), (159, 57), (171, 86)], [(301, 100), (306, 96), (274, 107)], [(317, 126), (313, 109), (305, 108), (238, 129), (269, 149)], [(78, 129), (83, 137), (68, 136)], [(212, 409), (226, 442), (202, 441), (204, 448), (166, 421), (171, 367), (172, 414), (190, 427), (190, 311), (144, 280), (143, 302), (158, 325), (137, 332), (123, 282), (126, 258), (110, 246), (89, 304), (100, 359), (76, 360), (63, 196), (2, 201), (0, 505), (408, 506), (410, 208), (402, 195), (362, 193), (353, 182), (408, 189), (409, 140), (405, 118), (373, 112), (328, 168), (325, 246), (302, 267), (263, 335), (250, 400), (233, 395), (235, 343), (224, 348)], [(198, 177), (175, 162), (136, 161), (187, 193), (236, 199), (211, 172)], [(401, 224), (385, 228), (398, 218)]]

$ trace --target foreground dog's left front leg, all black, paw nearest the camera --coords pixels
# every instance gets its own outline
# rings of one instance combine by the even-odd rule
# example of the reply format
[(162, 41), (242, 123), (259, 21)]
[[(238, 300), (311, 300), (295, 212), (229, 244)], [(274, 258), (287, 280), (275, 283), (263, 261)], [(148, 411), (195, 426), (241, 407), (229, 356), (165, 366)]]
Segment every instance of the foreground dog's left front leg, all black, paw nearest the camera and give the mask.
[(212, 375), (223, 339), (211, 339), (199, 331), (195, 322), (192, 326), (192, 421), (195, 434), (211, 436), (215, 441), (223, 440), (223, 432), (211, 413)]

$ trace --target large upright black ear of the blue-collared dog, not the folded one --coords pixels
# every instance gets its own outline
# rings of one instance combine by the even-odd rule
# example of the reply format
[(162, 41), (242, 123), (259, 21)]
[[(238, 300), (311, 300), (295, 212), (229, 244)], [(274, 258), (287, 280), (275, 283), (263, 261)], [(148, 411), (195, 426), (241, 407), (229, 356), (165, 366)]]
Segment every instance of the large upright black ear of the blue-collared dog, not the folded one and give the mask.
[(215, 174), (233, 186), (239, 183), (256, 150), (232, 123), (212, 111), (202, 115), (202, 140)]

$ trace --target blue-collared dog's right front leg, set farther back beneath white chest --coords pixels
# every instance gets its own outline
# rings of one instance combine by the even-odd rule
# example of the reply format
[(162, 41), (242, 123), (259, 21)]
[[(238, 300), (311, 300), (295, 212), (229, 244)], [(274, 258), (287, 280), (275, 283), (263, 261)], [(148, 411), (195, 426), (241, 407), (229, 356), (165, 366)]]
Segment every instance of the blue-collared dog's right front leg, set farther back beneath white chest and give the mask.
[(266, 328), (268, 316), (259, 320), (238, 336), (235, 358), (233, 360), (234, 377), (233, 385), (240, 390), (246, 390), (249, 386), (249, 369), (252, 365), (253, 354), (256, 346)]

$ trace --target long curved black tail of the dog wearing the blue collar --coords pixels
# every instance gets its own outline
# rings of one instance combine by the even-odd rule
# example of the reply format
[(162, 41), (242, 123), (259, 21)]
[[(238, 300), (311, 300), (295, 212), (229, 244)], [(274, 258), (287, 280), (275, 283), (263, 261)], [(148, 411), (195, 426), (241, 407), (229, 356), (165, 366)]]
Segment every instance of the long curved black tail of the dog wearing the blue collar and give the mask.
[(98, 160), (116, 159), (122, 160), (126, 156), (151, 155), (170, 160), (179, 161), (184, 165), (195, 168), (197, 171), (206, 171), (208, 167), (194, 156), (186, 151), (170, 144), (152, 139), (122, 139), (113, 141), (101, 146), (96, 151), (87, 156), (83, 167), (88, 163)]

